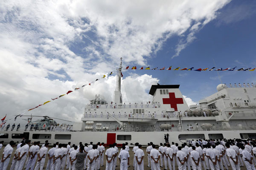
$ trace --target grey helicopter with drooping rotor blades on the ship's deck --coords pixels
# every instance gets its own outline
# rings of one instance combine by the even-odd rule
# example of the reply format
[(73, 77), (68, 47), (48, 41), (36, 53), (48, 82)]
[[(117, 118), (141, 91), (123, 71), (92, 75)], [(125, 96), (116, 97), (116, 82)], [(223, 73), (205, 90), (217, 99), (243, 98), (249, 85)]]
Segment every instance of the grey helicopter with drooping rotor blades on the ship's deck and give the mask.
[[(26, 116), (26, 115), (23, 115), (23, 116)], [(37, 130), (37, 129), (47, 129), (47, 130), (49, 130), (51, 126), (58, 125), (58, 123), (55, 120), (53, 120), (53, 119), (58, 119), (58, 118), (49, 117), (49, 116), (33, 116), (33, 115), (30, 115), (30, 116), (27, 116), (27, 117), (29, 117), (29, 118), (28, 119), (23, 119), (23, 120), (26, 120), (29, 125), (33, 124), (35, 130)], [(43, 117), (43, 119), (38, 119), (38, 120), (32, 122), (33, 117)], [(64, 119), (58, 119), (58, 120), (71, 122), (71, 121), (64, 120)]]

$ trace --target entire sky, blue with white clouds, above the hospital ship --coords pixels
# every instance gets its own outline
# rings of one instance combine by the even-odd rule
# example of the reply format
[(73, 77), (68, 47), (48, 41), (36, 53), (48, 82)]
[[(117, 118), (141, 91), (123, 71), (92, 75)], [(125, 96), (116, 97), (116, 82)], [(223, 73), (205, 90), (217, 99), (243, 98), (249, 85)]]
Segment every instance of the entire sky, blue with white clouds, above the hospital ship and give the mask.
[[(125, 3), (125, 5), (124, 5)], [(137, 68), (256, 67), (256, 2), (71, 1), (0, 4), (0, 107), (22, 113), (123, 66)], [(215, 61), (215, 64), (213, 62)], [(149, 101), (157, 82), (180, 84), (188, 104), (218, 84), (255, 83), (255, 71), (123, 71), (124, 101)], [(116, 77), (106, 77), (26, 114), (79, 121), (95, 94), (113, 100)]]

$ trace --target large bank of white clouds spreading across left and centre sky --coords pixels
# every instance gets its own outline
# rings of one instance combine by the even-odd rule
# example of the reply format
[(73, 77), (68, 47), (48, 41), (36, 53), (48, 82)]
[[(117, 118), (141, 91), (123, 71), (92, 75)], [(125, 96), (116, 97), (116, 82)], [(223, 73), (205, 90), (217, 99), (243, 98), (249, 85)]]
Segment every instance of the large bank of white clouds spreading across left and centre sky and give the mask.
[[(173, 35), (184, 37), (179, 54), (196, 31), (229, 0), (197, 1), (3, 1), (0, 4), (1, 116), (33, 108), (125, 63), (143, 65)], [(125, 3), (125, 5), (124, 5)], [(178, 55), (177, 54), (177, 55)], [(115, 77), (33, 110), (78, 121), (95, 94), (113, 100)], [(150, 100), (158, 79), (131, 74), (122, 81), (124, 101)]]

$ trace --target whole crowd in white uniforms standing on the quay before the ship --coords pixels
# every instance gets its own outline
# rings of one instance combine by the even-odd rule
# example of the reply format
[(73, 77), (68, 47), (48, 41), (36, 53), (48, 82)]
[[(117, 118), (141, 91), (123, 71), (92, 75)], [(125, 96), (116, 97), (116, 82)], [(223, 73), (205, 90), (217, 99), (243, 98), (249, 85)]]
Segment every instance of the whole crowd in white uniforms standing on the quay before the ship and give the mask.
[[(142, 145), (135, 143), (132, 149), (134, 154), (131, 166), (134, 170), (144, 170), (144, 160), (151, 170), (240, 170), (240, 167), (246, 167), (247, 170), (255, 170), (256, 160), (256, 141), (252, 139), (210, 139), (196, 141), (192, 140), (191, 144), (179, 144), (172, 142), (160, 143), (156, 146), (153, 142), (148, 143), (146, 153), (142, 149)], [(0, 142), (0, 150), (3, 141)], [(0, 161), (0, 170), (6, 170), (10, 158), (14, 153), (10, 170), (43, 170), (46, 157), (48, 157), (46, 170), (100, 170), (104, 166), (105, 169), (115, 170), (116, 162), (120, 162), (120, 170), (127, 170), (130, 166), (129, 146), (126, 142), (122, 144), (119, 150), (117, 144), (110, 144), (105, 150), (104, 143), (82, 144), (78, 145), (68, 142), (68, 144), (60, 144), (56, 142), (53, 147), (48, 150), (49, 143), (45, 141), (40, 147), (40, 142), (33, 142), (23, 139), (17, 144), (11, 141), (3, 149)], [(145, 154), (147, 156), (145, 156)], [(105, 158), (104, 158), (105, 157)]]

